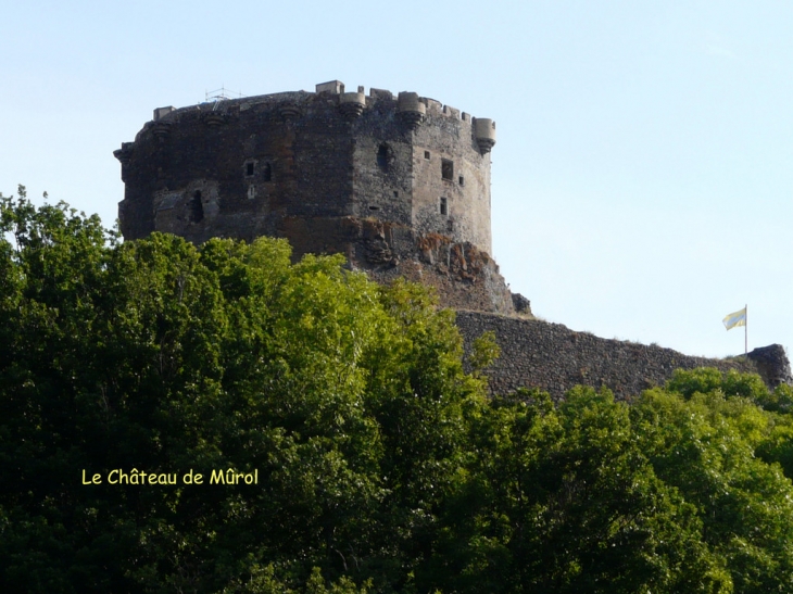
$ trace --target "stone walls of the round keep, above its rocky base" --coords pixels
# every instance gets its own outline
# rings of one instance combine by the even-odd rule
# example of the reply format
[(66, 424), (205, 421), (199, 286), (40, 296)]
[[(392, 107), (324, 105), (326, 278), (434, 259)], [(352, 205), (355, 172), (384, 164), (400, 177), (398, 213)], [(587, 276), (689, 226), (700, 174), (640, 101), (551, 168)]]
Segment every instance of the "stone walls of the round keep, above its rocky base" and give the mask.
[(490, 154), (474, 118), (419, 98), (424, 115), (407, 121), (390, 91), (335, 88), (156, 110), (114, 153), (124, 237), (291, 240), (291, 219), (357, 216), (490, 252)]

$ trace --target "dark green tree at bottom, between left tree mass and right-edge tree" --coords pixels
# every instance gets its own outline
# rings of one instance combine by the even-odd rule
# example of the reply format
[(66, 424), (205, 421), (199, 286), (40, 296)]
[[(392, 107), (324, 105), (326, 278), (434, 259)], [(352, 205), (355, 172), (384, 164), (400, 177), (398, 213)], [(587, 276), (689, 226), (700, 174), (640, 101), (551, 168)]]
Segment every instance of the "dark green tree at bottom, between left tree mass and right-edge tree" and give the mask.
[(444, 543), (453, 591), (731, 591), (694, 508), (655, 476), (609, 392), (572, 390), (558, 409), (540, 392), (498, 399), (476, 434), (460, 494), (474, 514)]

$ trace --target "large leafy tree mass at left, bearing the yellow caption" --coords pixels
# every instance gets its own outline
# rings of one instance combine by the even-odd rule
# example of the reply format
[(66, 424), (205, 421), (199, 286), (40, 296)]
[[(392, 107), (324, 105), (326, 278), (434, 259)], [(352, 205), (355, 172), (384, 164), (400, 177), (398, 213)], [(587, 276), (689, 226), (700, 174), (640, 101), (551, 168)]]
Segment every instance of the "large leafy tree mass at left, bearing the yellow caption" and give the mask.
[[(313, 568), (332, 592), (407, 587), (481, 403), (449, 313), (284, 241), (119, 244), (24, 195), (1, 220), (5, 583), (216, 592), (272, 567), (298, 591), (322, 591)], [(259, 484), (80, 482), (227, 468)]]

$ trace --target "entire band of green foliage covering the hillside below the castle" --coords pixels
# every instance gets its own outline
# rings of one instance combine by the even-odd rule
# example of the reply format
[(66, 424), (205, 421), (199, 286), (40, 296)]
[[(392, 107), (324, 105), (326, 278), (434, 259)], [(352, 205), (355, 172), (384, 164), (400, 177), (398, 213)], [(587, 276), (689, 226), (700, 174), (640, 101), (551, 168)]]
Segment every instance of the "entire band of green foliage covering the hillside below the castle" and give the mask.
[(420, 288), (0, 200), (3, 591), (793, 590), (786, 387), (487, 399)]

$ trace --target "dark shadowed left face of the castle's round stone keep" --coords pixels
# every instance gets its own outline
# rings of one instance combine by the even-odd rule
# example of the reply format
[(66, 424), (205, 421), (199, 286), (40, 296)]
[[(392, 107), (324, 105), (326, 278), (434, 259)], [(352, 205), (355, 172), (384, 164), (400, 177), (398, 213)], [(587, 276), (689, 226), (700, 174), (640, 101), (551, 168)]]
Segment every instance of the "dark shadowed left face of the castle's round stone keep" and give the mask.
[(124, 237), (250, 241), (290, 218), (351, 215), (353, 138), (326, 111), (303, 91), (156, 110), (115, 153)]

